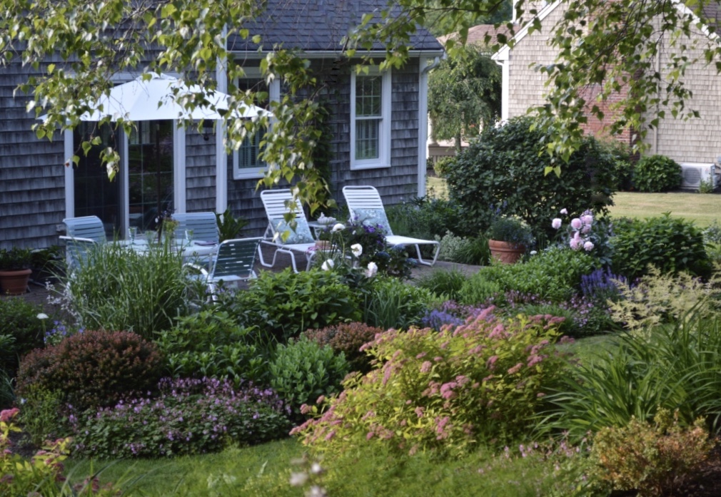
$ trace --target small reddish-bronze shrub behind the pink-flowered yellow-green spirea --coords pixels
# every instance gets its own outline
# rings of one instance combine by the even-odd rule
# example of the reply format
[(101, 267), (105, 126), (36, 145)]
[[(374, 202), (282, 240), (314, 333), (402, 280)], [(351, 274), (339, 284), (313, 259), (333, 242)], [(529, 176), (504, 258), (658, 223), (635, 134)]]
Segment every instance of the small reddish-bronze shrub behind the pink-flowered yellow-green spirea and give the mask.
[(339, 323), (320, 330), (306, 330), (304, 335), (321, 346), (329, 345), (336, 354), (342, 352), (351, 371), (366, 373), (371, 370), (371, 358), (361, 352), (361, 346), (384, 331), (366, 323)]

